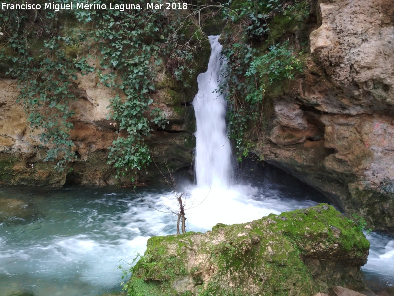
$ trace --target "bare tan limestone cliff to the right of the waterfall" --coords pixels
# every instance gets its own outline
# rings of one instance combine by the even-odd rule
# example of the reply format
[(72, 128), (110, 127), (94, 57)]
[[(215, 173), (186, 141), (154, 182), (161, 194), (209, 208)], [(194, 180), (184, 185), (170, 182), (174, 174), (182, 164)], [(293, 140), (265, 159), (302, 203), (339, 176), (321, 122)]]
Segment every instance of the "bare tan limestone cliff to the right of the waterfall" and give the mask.
[(394, 233), (393, 1), (320, 0), (311, 14), (306, 71), (267, 92), (255, 152)]

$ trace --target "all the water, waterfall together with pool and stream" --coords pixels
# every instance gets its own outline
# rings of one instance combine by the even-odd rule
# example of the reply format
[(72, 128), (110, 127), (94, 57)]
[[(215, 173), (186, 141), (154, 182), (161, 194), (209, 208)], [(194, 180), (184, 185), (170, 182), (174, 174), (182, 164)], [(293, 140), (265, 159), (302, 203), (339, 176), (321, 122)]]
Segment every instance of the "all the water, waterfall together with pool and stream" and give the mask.
[[(216, 94), (221, 62), (210, 37), (207, 72), (197, 81), (197, 184), (179, 183), (186, 197), (187, 231), (207, 231), (270, 213), (327, 202), (314, 189), (269, 166), (244, 162), (233, 172), (224, 116)], [(0, 187), (0, 296), (97, 296), (121, 290), (128, 269), (149, 237), (176, 233), (173, 192), (163, 185), (121, 188)], [(394, 238), (372, 234), (364, 267), (368, 279), (394, 284)]]

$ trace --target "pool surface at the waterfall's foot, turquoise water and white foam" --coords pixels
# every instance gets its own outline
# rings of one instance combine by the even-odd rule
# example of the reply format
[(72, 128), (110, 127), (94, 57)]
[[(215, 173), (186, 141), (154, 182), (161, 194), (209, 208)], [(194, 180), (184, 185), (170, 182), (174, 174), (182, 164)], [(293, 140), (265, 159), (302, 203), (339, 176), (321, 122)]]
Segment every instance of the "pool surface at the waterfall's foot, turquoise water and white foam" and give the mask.
[[(206, 231), (218, 222), (248, 222), (325, 201), (288, 175), (265, 171), (227, 189), (185, 184), (181, 190), (187, 195), (187, 230)], [(176, 217), (164, 208), (176, 209), (174, 201), (164, 186), (135, 192), (1, 186), (0, 296), (97, 296), (121, 291), (118, 266), (128, 268), (136, 254), (144, 252), (149, 237), (176, 232)], [(382, 254), (390, 260), (391, 239), (385, 243), (386, 249), (376, 249), (376, 266)]]

